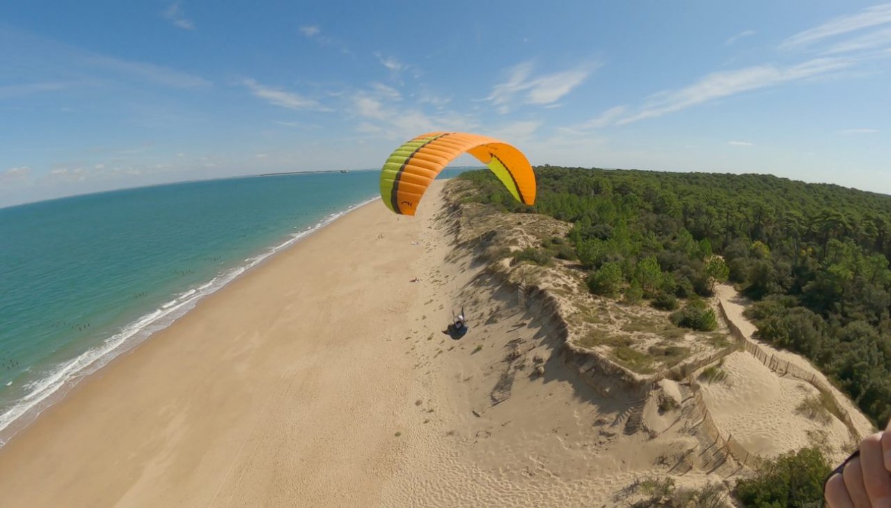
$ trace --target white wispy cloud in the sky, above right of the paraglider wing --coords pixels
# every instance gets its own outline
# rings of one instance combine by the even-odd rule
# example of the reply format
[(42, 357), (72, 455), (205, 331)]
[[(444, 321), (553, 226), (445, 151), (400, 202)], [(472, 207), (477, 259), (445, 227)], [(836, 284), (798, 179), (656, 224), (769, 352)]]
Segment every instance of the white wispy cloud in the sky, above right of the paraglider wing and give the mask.
[(516, 96), (526, 104), (544, 106), (557, 102), (581, 85), (600, 64), (584, 65), (545, 76), (532, 77), (532, 63), (524, 62), (510, 70), (507, 81), (495, 85), (486, 97), (500, 113), (513, 109)]

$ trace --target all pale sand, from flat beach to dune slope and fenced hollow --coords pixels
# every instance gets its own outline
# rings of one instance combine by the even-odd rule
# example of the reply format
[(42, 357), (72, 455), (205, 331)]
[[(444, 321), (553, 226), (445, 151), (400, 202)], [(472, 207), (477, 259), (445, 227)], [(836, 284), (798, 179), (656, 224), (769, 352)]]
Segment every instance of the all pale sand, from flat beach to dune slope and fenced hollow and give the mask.
[[(0, 448), (0, 506), (627, 506), (642, 479), (745, 473), (689, 385), (642, 402), (568, 364), (552, 315), (455, 244), (445, 184), (416, 217), (348, 213), (82, 381)], [(797, 411), (806, 383), (724, 368), (703, 404), (746, 454), (846, 453)]]

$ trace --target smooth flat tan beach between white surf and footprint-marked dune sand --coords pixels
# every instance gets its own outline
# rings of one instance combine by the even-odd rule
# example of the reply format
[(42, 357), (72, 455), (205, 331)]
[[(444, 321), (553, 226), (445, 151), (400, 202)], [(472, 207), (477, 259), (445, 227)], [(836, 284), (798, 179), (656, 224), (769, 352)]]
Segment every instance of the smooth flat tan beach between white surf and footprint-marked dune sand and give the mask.
[(82, 381), (0, 449), (0, 505), (378, 504), (422, 397), (426, 201), (341, 217)]

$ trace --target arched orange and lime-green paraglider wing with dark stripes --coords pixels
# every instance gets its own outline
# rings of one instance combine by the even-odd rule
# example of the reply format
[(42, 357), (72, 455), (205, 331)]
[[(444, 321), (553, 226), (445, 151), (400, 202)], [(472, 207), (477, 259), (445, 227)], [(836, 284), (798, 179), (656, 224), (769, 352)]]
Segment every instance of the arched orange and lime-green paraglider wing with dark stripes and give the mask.
[(535, 204), (535, 173), (522, 152), (485, 135), (433, 132), (396, 149), (380, 171), (380, 197), (402, 215), (414, 215), (430, 182), (467, 152), (486, 164), (517, 201)]

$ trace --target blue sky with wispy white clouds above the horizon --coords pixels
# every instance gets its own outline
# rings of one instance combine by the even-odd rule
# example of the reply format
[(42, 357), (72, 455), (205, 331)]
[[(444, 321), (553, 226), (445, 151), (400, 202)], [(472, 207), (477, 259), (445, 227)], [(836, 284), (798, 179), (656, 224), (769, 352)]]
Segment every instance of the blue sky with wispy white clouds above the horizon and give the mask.
[(376, 168), (432, 130), (891, 193), (889, 70), (891, 4), (10, 0), (0, 206)]

